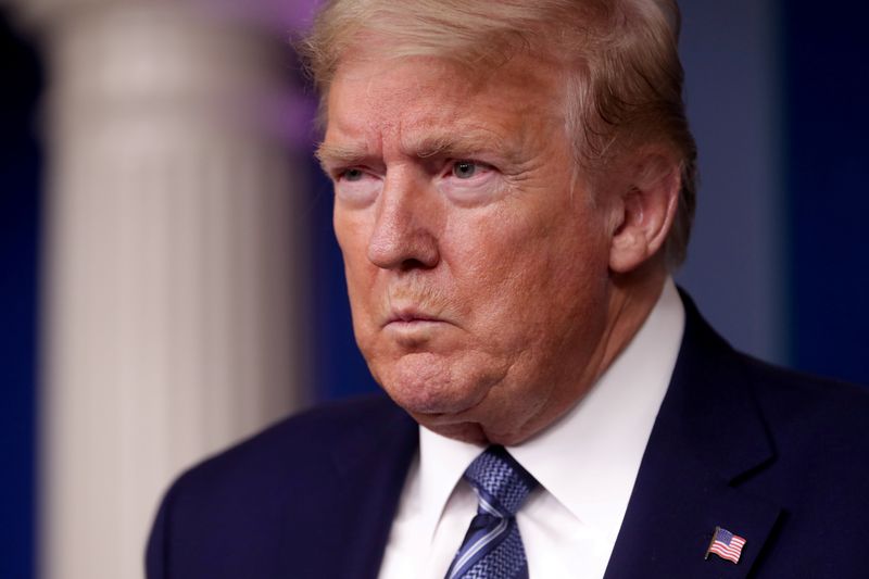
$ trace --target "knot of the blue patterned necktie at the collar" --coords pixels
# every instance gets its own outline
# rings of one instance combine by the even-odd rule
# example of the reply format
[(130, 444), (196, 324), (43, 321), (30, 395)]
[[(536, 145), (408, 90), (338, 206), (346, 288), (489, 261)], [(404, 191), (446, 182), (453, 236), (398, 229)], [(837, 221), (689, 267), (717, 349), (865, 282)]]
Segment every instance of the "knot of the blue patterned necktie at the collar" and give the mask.
[(479, 512), (504, 518), (514, 516), (538, 484), (503, 446), (489, 446), (470, 463), (464, 477), (477, 490)]

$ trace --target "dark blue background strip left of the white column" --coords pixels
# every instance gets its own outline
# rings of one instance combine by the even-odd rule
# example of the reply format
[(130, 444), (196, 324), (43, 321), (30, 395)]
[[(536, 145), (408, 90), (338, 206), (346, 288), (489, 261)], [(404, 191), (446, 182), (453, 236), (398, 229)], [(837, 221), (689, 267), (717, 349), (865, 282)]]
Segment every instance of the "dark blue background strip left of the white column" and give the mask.
[(0, 577), (33, 576), (42, 87), (34, 48), (0, 13)]

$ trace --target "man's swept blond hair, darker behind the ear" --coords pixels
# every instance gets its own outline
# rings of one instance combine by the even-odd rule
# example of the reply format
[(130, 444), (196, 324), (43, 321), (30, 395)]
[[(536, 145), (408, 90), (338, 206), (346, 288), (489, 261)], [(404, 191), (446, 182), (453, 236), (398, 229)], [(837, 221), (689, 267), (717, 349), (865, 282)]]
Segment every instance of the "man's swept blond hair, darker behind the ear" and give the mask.
[(518, 51), (558, 59), (568, 74), (568, 138), (577, 166), (601, 169), (620, 152), (664, 144), (681, 169), (665, 243), (684, 261), (695, 205), (696, 147), (682, 101), (676, 0), (328, 0), (299, 50), (322, 96), (365, 43), (378, 56), (439, 56), (490, 71)]

